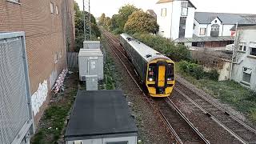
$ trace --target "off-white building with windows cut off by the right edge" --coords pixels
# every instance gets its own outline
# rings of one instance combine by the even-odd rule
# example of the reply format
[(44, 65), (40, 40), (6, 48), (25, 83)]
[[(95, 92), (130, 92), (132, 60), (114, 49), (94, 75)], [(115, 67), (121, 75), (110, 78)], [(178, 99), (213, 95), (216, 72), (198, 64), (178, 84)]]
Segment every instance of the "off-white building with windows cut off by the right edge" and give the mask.
[(231, 78), (256, 90), (256, 26), (239, 26), (238, 35), (238, 51)]

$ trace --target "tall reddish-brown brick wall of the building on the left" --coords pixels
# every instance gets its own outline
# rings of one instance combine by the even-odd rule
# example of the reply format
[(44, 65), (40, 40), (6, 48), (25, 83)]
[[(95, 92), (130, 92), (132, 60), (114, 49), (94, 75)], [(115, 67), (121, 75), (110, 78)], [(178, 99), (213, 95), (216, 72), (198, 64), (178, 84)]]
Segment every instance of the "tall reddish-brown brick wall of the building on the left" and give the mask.
[[(50, 2), (54, 3), (54, 14), (50, 13)], [(26, 33), (31, 94), (38, 90), (39, 83), (44, 80), (47, 80), (50, 90), (50, 76), (54, 72), (58, 75), (66, 68), (66, 50), (74, 50), (73, 5), (73, 0), (20, 0), (19, 3), (0, 0), (0, 32)], [(59, 14), (56, 14), (55, 6), (58, 6)], [(54, 62), (56, 54), (57, 63)], [(49, 95), (40, 112), (35, 115), (35, 123), (41, 118)]]

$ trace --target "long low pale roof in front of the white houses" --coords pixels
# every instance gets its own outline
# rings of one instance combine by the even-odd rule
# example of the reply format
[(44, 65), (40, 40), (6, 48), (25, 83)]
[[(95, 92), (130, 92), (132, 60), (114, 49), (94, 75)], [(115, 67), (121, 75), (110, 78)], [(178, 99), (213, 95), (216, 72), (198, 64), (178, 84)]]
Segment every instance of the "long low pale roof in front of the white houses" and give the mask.
[(198, 37), (195, 34), (193, 38), (178, 38), (174, 42), (219, 42), (219, 41), (234, 41), (234, 37), (231, 36), (219, 36), (219, 37)]

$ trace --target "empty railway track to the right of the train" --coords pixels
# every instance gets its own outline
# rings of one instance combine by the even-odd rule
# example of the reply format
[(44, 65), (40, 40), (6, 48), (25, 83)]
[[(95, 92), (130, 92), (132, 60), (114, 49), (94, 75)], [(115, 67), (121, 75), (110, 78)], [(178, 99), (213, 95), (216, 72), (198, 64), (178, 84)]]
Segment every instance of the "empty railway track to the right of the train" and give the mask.
[(246, 125), (246, 123), (235, 118), (232, 114), (223, 110), (220, 106), (211, 102), (208, 98), (203, 96), (193, 86), (189, 86), (181, 79), (176, 79), (174, 90), (177, 90), (189, 102), (206, 114), (214, 122), (222, 126), (224, 130), (230, 133), (234, 138), (242, 143), (256, 143), (256, 130)]

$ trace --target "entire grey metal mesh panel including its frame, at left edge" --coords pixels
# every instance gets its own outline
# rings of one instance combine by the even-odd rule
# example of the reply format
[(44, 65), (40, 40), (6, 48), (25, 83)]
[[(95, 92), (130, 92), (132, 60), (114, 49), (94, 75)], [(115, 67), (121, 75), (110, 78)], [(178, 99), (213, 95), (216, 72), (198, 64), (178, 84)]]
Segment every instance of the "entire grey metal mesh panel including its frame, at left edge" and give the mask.
[(34, 134), (24, 32), (0, 33), (0, 143), (30, 143)]

